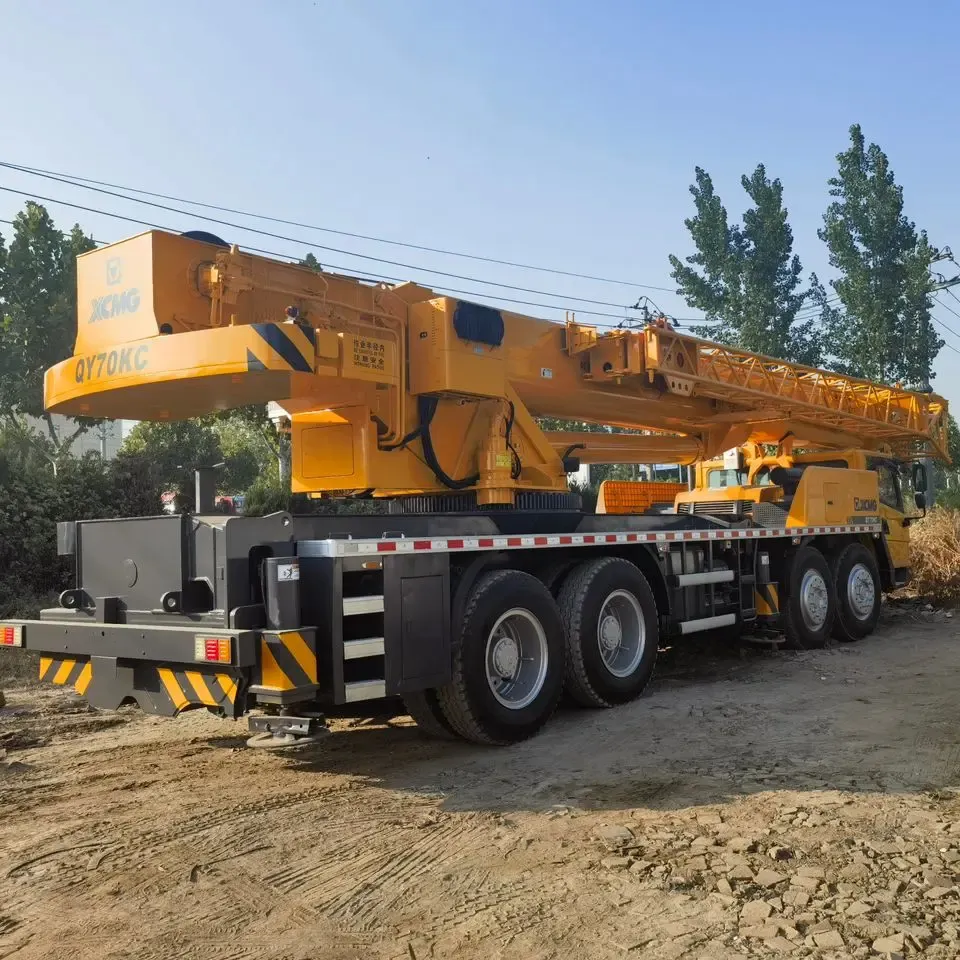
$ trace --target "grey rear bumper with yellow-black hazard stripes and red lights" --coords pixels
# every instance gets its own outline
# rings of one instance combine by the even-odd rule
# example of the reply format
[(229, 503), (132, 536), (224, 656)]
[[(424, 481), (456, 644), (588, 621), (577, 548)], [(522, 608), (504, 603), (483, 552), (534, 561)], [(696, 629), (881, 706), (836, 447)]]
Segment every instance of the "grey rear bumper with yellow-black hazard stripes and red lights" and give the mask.
[[(239, 717), (256, 679), (260, 633), (58, 620), (5, 621), (22, 647), (40, 655), (40, 679), (72, 686), (90, 704), (116, 710), (135, 701), (146, 713), (176, 716), (206, 707)], [(230, 662), (198, 661), (198, 638), (229, 639)]]

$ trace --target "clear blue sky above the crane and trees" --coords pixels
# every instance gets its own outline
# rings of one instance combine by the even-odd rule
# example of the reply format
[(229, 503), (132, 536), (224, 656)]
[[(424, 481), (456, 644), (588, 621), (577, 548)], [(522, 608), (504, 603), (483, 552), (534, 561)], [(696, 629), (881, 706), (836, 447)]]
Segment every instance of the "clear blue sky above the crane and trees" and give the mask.
[[(958, 26), (960, 8), (891, 0), (0, 0), (0, 160), (634, 285), (259, 224), (408, 265), (314, 250), (337, 267), (488, 300), (498, 290), (480, 281), (544, 303), (646, 293), (686, 317), (667, 256), (690, 252), (694, 166), (739, 216), (739, 177), (765, 163), (804, 267), (829, 275), (816, 229), (853, 122), (890, 156), (908, 215), (960, 258)], [(0, 186), (307, 249), (6, 170)], [(0, 191), (0, 218), (23, 202)], [(49, 207), (98, 239), (138, 229)], [(960, 334), (945, 307), (935, 315)], [(960, 353), (944, 348), (936, 370), (960, 409)]]

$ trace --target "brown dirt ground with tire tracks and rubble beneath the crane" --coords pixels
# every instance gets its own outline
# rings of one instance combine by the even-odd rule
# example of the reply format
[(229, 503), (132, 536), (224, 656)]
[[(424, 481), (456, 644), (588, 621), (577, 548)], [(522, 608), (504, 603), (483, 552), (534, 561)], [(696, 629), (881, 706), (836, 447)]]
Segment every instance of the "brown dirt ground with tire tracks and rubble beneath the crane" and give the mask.
[[(532, 741), (0, 710), (0, 958), (960, 956), (960, 623), (668, 651)], [(960, 621), (960, 617), (958, 617)]]

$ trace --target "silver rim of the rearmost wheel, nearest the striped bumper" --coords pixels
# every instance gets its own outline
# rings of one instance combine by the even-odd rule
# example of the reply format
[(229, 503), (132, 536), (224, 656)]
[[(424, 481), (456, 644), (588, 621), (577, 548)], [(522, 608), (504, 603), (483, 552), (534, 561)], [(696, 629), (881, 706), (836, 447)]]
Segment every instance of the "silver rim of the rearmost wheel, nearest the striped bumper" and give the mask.
[(547, 677), (547, 635), (529, 611), (504, 613), (487, 637), (487, 684), (497, 702), (522, 710), (536, 700)]

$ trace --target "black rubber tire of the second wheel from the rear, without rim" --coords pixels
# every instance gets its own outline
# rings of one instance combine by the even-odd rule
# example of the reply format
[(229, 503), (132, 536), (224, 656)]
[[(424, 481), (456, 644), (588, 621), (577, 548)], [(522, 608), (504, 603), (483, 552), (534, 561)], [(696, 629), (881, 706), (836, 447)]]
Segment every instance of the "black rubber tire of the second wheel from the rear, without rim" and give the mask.
[[(604, 601), (614, 590), (632, 594), (643, 615), (645, 645), (636, 668), (627, 677), (614, 676), (604, 665), (597, 641)], [(588, 560), (564, 580), (558, 597), (567, 644), (566, 692), (584, 707), (612, 707), (643, 692), (653, 676), (659, 645), (657, 603), (646, 577), (629, 560)]]

